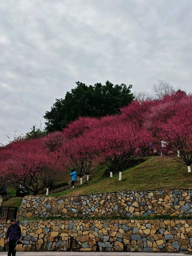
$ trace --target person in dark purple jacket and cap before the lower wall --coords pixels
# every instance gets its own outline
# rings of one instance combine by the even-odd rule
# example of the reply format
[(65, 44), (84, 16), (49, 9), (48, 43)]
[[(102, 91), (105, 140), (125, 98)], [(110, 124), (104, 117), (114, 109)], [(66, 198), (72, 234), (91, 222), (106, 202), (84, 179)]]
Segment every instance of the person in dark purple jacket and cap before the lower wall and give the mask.
[(7, 243), (7, 239), (9, 238), (9, 251), (8, 256), (15, 256), (16, 255), (16, 245), (17, 241), (21, 241), (21, 228), (16, 223), (16, 219), (11, 219), (11, 224), (7, 229), (5, 243)]

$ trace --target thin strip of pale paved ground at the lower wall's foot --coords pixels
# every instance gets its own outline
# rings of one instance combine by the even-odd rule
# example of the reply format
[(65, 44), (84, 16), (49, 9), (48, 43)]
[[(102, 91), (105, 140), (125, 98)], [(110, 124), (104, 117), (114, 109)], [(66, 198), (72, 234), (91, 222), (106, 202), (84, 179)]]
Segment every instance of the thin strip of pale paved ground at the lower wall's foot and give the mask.
[[(181, 255), (182, 254), (182, 255)], [(185, 253), (159, 253), (159, 252), (82, 252), (82, 251), (39, 251), (39, 252), (17, 252), (16, 256), (184, 256), (189, 255)], [(0, 256), (7, 256), (7, 252), (0, 252)]]

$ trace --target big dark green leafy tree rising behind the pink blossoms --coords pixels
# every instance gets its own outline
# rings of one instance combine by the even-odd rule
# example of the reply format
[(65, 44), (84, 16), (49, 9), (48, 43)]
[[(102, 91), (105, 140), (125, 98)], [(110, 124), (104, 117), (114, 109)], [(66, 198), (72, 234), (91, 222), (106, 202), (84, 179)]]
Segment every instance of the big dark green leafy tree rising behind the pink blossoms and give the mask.
[(105, 85), (94, 86), (76, 82), (76, 87), (67, 92), (65, 98), (56, 99), (44, 118), (48, 132), (60, 131), (79, 116), (101, 117), (120, 113), (134, 99), (132, 85), (113, 85), (108, 80)]

